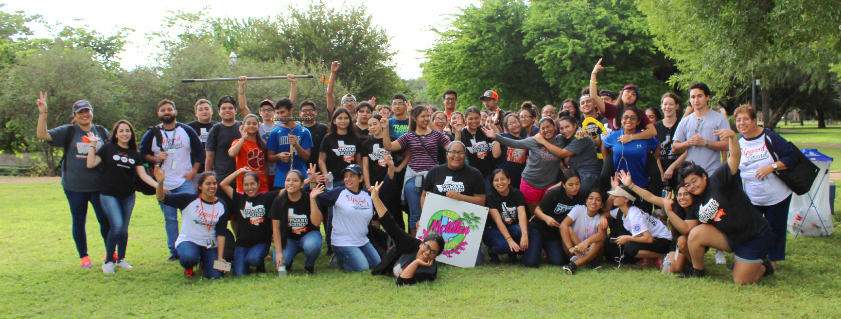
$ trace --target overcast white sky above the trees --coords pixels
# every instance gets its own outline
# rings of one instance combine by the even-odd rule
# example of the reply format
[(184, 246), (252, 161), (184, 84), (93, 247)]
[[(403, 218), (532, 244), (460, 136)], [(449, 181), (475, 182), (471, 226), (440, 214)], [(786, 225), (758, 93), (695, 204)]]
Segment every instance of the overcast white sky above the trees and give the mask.
[[(397, 73), (403, 78), (421, 77), (421, 57), (423, 54), (416, 50), (428, 48), (435, 40), (435, 34), (430, 26), (438, 26), (445, 17), (442, 14), (457, 13), (458, 7), (465, 7), (470, 3), (478, 5), (473, 0), (424, 0), (422, 2), (396, 2), (388, 0), (348, 0), (347, 3), (365, 3), (373, 14), (373, 21), (383, 26), (389, 35), (393, 36), (392, 50), (397, 51), (394, 62)], [(24, 10), (27, 13), (37, 13), (44, 16), (50, 24), (61, 22), (81, 26), (87, 24), (91, 29), (100, 33), (110, 34), (119, 28), (135, 29), (129, 36), (131, 43), (126, 45), (126, 51), (120, 54), (124, 68), (135, 65), (148, 65), (151, 52), (156, 50), (148, 45), (144, 39), (146, 33), (161, 29), (161, 19), (167, 15), (167, 9), (181, 9), (186, 12), (197, 12), (210, 6), (214, 15), (229, 16), (231, 18), (265, 17), (282, 13), (287, 3), (294, 3), (304, 7), (307, 0), (286, 1), (218, 1), (218, 0), (178, 0), (161, 1), (148, 0), (142, 2), (114, 2), (88, 0), (81, 2), (42, 0), (42, 1), (13, 1), (8, 3), (4, 11)], [(341, 1), (325, 0), (329, 5), (338, 6)], [(74, 22), (73, 19), (84, 19)], [(34, 26), (34, 25), (33, 25)], [(46, 36), (44, 30), (36, 35)]]

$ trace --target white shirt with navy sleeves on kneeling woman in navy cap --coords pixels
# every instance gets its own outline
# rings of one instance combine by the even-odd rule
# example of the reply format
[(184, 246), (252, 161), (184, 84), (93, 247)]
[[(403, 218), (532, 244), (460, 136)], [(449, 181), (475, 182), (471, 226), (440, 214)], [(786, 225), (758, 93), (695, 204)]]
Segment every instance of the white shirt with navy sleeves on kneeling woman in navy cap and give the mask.
[(368, 224), (373, 218), (373, 200), (368, 191), (353, 194), (344, 186), (319, 195), (319, 204), (333, 206), (331, 245), (362, 247), (368, 243)]

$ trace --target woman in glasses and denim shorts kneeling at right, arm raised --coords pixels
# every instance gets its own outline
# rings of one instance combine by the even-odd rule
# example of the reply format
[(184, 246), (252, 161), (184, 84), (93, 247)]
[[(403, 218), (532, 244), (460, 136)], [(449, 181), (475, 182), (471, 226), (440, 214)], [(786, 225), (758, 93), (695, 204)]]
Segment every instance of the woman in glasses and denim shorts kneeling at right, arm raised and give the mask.
[(704, 253), (706, 247), (711, 247), (736, 255), (733, 282), (753, 284), (760, 277), (774, 274), (774, 267), (767, 258), (774, 244), (774, 233), (736, 178), (742, 156), (736, 133), (725, 129), (716, 130), (714, 134), (722, 141), (728, 140), (727, 165), (722, 163), (707, 175), (696, 163), (684, 162), (678, 171), (680, 180), (698, 197), (700, 204), (686, 215), (687, 224), (695, 226), (689, 233), (688, 242), (692, 267), (679, 277), (705, 277)]

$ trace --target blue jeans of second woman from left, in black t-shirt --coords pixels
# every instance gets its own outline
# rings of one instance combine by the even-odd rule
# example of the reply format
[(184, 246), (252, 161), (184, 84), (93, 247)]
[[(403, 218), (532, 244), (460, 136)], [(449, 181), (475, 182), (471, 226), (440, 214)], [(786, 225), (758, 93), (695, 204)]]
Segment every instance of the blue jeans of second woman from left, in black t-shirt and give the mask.
[(105, 215), (108, 216), (108, 222), (111, 223), (108, 239), (105, 241), (105, 261), (116, 263), (114, 250), (117, 250), (117, 247), (119, 247), (118, 260), (125, 258), (125, 246), (129, 242), (131, 211), (135, 209), (135, 194), (122, 197), (99, 194), (99, 201), (102, 203)]

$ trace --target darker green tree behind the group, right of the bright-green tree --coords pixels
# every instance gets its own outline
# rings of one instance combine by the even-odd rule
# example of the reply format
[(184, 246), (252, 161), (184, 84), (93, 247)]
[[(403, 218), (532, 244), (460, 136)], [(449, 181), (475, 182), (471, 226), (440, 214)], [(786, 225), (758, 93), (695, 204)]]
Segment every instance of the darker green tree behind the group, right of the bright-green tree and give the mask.
[(632, 0), (534, 1), (523, 24), (527, 56), (543, 78), (566, 97), (578, 98), (590, 85), (590, 72), (600, 58), (599, 88), (618, 92), (626, 84), (641, 90), (639, 105), (659, 105), (674, 72), (658, 52), (643, 13)]

